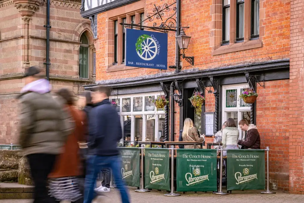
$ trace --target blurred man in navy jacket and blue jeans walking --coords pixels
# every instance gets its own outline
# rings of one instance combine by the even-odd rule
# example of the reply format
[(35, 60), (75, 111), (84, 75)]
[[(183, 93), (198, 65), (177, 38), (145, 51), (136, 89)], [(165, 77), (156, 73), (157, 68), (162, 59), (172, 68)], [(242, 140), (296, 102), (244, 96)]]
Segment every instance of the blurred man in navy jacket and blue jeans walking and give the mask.
[(129, 194), (121, 175), (122, 161), (117, 142), (122, 138), (122, 128), (116, 108), (109, 102), (110, 90), (104, 86), (93, 89), (95, 107), (89, 118), (89, 144), (94, 154), (88, 158), (85, 179), (84, 203), (91, 203), (97, 174), (103, 168), (111, 168), (123, 203), (130, 203)]

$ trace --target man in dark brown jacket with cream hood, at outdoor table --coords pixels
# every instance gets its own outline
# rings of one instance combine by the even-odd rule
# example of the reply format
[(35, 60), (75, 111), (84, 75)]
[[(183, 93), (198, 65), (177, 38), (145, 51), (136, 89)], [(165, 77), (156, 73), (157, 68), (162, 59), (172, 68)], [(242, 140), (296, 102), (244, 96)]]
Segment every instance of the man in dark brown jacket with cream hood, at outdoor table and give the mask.
[(261, 149), (261, 138), (257, 126), (248, 124), (245, 119), (240, 120), (239, 126), (242, 131), (247, 131), (247, 136), (246, 139), (239, 140), (237, 144), (241, 145), (242, 149)]

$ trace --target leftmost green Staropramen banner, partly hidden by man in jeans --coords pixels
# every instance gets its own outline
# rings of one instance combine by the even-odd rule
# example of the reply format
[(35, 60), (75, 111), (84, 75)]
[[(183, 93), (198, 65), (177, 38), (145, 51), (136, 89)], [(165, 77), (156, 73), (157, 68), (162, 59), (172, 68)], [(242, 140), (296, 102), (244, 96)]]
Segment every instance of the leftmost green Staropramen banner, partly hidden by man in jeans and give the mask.
[(120, 147), (120, 155), (123, 160), (121, 174), (126, 184), (140, 187), (140, 149), (131, 147)]

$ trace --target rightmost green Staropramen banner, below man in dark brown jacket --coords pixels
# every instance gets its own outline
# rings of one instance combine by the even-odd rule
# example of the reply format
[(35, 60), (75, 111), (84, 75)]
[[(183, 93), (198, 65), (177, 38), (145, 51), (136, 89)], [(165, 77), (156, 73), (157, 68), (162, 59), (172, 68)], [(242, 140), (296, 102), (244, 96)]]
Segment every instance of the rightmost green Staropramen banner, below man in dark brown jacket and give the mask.
[(227, 150), (227, 190), (265, 189), (265, 151)]

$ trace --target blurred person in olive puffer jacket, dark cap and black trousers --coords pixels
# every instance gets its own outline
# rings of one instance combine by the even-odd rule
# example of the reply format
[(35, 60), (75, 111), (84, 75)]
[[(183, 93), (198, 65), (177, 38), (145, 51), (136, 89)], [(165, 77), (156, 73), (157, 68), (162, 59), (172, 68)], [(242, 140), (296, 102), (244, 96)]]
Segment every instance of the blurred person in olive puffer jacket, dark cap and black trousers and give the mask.
[(43, 79), (38, 68), (27, 68), (24, 77), (25, 86), (18, 96), (19, 143), (28, 158), (35, 184), (34, 203), (49, 203), (47, 176), (75, 124), (63, 103), (50, 94), (50, 83)]

